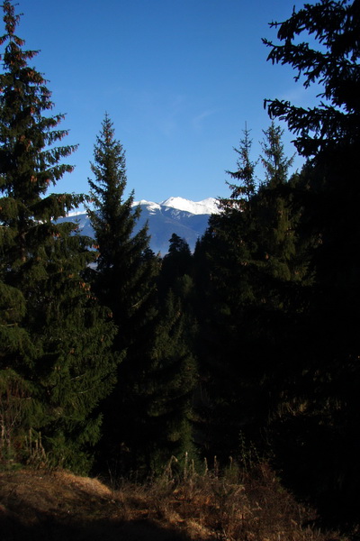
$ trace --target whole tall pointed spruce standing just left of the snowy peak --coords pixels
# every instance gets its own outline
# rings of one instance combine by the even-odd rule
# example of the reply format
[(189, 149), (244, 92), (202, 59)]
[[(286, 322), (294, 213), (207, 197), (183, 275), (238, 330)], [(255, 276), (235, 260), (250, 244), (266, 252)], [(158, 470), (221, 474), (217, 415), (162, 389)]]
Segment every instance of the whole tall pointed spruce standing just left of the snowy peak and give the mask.
[(148, 415), (140, 381), (151, 371), (159, 263), (148, 248), (148, 225), (136, 231), (140, 209), (133, 206), (133, 192), (124, 198), (125, 152), (115, 139), (108, 115), (94, 145), (92, 171), (95, 179), (89, 179), (89, 185), (93, 206), (88, 214), (98, 250), (94, 290), (112, 310), (118, 329), (113, 349), (122, 358), (116, 387), (104, 411), (99, 467), (107, 461), (114, 471), (120, 468), (126, 473), (148, 460), (144, 458)]

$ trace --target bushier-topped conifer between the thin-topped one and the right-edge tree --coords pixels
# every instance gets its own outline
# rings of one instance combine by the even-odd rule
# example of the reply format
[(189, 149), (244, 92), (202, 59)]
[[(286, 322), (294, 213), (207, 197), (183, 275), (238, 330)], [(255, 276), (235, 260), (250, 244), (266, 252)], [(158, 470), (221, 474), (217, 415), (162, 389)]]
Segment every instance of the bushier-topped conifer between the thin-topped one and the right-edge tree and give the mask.
[(293, 158), (284, 154), (284, 131), (279, 126), (272, 122), (264, 134), (260, 160), (265, 179), (252, 200), (257, 248), (251, 264), (257, 300), (252, 303), (251, 318), (257, 329), (258, 350), (252, 363), (260, 369), (261, 381), (261, 385), (253, 381), (253, 397), (259, 390), (260, 401), (266, 407), (263, 418), (257, 420), (258, 428), (266, 426), (268, 430), (268, 419), (293, 399), (290, 389), (300, 362), (296, 353), (291, 364), (287, 357), (304, 325), (306, 287), (311, 279), (307, 276), (308, 256), (298, 231), (302, 208), (294, 203), (297, 176), (288, 177)]

